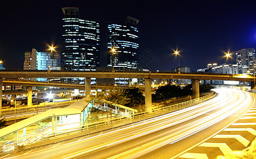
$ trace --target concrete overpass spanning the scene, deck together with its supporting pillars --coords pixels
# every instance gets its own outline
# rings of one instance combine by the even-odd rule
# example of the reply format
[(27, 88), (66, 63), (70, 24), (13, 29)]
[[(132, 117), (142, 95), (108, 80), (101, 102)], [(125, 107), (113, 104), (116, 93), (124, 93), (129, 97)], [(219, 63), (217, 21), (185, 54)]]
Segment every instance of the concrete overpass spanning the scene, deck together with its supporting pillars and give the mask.
[[(1, 70), (0, 86), (3, 85), (3, 78), (86, 78), (84, 90), (86, 96), (90, 95), (91, 78), (144, 78), (145, 79), (145, 105), (146, 111), (151, 112), (151, 79), (190, 79), (192, 80), (193, 94), (199, 96), (199, 80), (225, 80), (225, 81), (245, 81), (254, 82), (250, 75), (236, 74), (207, 74), (207, 73), (176, 73), (176, 72), (112, 72), (106, 71), (47, 71), (47, 70)], [(25, 82), (26, 83), (26, 82)], [(69, 84), (66, 84), (69, 85)], [(73, 85), (73, 84), (72, 84)], [(254, 85), (253, 85), (254, 86)], [(2, 96), (2, 90), (0, 90)], [(28, 87), (28, 105), (32, 103), (32, 88)], [(2, 100), (2, 99), (1, 99)], [(0, 101), (1, 107), (2, 102)], [(1, 109), (0, 107), (0, 109)], [(0, 113), (1, 116), (1, 113)]]

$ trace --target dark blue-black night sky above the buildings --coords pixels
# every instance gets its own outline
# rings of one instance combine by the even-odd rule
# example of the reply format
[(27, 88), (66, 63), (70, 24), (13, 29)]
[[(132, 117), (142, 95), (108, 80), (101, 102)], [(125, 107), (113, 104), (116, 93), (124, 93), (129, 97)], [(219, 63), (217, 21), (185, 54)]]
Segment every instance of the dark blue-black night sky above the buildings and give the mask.
[(6, 69), (23, 69), (24, 52), (46, 51), (47, 43), (61, 52), (62, 7), (79, 7), (81, 19), (100, 21), (101, 66), (106, 66), (107, 22), (124, 23), (127, 16), (139, 20), (139, 53), (150, 49), (156, 57), (151, 70), (178, 67), (176, 48), (181, 65), (196, 71), (227, 63), (223, 51), (256, 47), (256, 1), (5, 1), (1, 6), (0, 59)]

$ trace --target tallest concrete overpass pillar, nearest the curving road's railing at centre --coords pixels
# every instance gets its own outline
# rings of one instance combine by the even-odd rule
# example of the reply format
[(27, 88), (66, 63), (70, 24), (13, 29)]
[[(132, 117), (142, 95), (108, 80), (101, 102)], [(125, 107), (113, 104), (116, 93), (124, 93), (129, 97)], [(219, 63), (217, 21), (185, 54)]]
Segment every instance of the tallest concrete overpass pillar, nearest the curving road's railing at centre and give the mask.
[(152, 112), (151, 78), (145, 79), (145, 107), (147, 112)]

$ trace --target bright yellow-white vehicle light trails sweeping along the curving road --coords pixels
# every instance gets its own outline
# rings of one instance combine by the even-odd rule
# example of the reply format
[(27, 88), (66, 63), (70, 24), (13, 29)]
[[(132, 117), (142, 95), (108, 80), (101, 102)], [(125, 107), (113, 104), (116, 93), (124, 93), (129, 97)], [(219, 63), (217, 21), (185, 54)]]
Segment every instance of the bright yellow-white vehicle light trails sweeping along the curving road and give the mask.
[[(97, 151), (112, 149), (114, 146), (118, 147), (120, 144), (129, 142), (131, 144), (127, 144), (126, 149), (121, 148), (119, 151), (112, 152), (113, 155), (110, 158), (138, 157), (164, 145), (178, 142), (214, 125), (240, 110), (251, 100), (251, 95), (247, 92), (231, 89), (215, 89), (215, 91), (218, 93), (216, 98), (206, 102), (159, 117), (135, 122), (113, 131), (103, 131), (95, 136), (80, 138), (75, 142), (55, 145), (45, 149), (47, 154), (41, 156), (56, 155), (55, 157), (73, 158), (91, 153), (98, 155)], [(176, 128), (172, 128), (173, 126)], [(138, 140), (161, 130), (164, 130), (164, 133)], [(44, 151), (40, 153), (44, 153)], [(39, 151), (30, 152), (26, 155), (36, 156), (39, 155)], [(24, 155), (14, 157), (20, 158)]]

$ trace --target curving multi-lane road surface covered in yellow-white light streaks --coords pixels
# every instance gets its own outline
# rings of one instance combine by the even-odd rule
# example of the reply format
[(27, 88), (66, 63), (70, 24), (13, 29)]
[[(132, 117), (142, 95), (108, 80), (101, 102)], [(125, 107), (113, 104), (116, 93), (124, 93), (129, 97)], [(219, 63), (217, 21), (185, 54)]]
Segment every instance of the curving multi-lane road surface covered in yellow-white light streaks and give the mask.
[[(215, 91), (218, 93), (215, 98), (186, 109), (113, 130), (2, 156), (10, 158), (178, 157), (178, 154), (181, 155), (240, 118), (254, 102), (254, 98), (249, 93), (240, 90), (215, 89)], [(209, 158), (216, 157), (216, 154), (214, 157), (210, 155)]]

